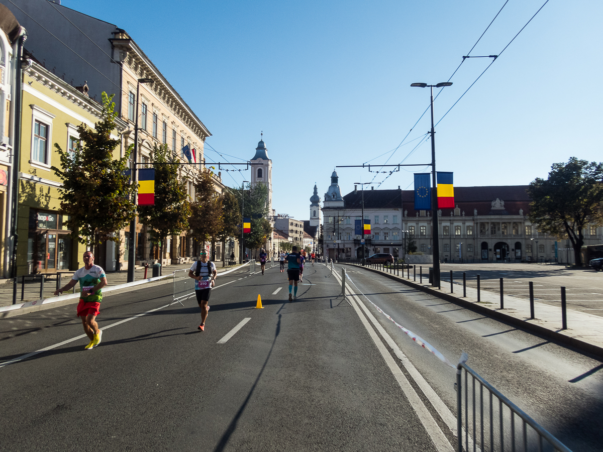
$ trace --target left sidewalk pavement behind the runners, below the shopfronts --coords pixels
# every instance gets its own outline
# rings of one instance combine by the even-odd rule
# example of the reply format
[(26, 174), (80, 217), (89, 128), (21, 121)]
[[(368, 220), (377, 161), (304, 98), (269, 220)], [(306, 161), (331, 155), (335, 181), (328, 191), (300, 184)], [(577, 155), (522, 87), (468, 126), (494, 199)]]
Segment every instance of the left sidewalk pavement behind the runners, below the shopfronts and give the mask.
[[(224, 272), (224, 271), (227, 271), (230, 269), (235, 269), (240, 266), (240, 265), (231, 265), (231, 266), (222, 267), (221, 262), (216, 262), (215, 264), (216, 264), (216, 269), (218, 270), (218, 275), (221, 272)], [(157, 279), (157, 280), (152, 280), (153, 278), (151, 278), (151, 275), (153, 274), (153, 272), (152, 272), (152, 268), (149, 268), (147, 271), (147, 280), (145, 280), (144, 286), (148, 287), (151, 285), (171, 283), (172, 282), (171, 274), (174, 271), (188, 270), (191, 268), (191, 265), (192, 265), (192, 263), (166, 265), (162, 269), (162, 274), (164, 277), (161, 279)], [(60, 281), (61, 287), (65, 286), (65, 284), (67, 284), (69, 282), (69, 280), (71, 279), (73, 274), (74, 274), (74, 272), (62, 273), (62, 277), (61, 277), (61, 281)], [(142, 281), (142, 280), (144, 280), (144, 276), (145, 276), (144, 267), (134, 268), (134, 281)], [(58, 282), (57, 275), (56, 274), (47, 274), (46, 278), (48, 278), (48, 279), (45, 280), (44, 287), (43, 287), (43, 297), (41, 297), (41, 298), (40, 298), (40, 285), (41, 285), (40, 280), (41, 280), (41, 278), (38, 277), (35, 279), (31, 279), (31, 280), (27, 280), (27, 278), (26, 278), (25, 286), (24, 286), (24, 298), (22, 300), (21, 299), (22, 284), (21, 284), (21, 277), (19, 277), (19, 283), (17, 284), (17, 305), (21, 305), (23, 303), (28, 303), (28, 302), (29, 303), (27, 304), (27, 306), (20, 307), (20, 309), (16, 309), (16, 310), (9, 310), (13, 307), (13, 284), (12, 284), (12, 281), (7, 281), (4, 284), (0, 284), (0, 319), (12, 317), (15, 315), (21, 315), (21, 314), (33, 312), (36, 310), (51, 309), (52, 307), (57, 307), (57, 306), (65, 306), (65, 304), (77, 303), (79, 301), (78, 297), (69, 297), (68, 296), (68, 293), (72, 293), (70, 291), (70, 292), (65, 292), (65, 294), (62, 297), (60, 297), (61, 301), (57, 301), (57, 303), (44, 304), (43, 306), (41, 303), (36, 303), (34, 306), (30, 306), (32, 304), (31, 302), (42, 301), (42, 300), (46, 300), (48, 298), (57, 298), (57, 297), (54, 297), (54, 291), (57, 290), (57, 282)], [(121, 286), (122, 284), (127, 283), (127, 280), (128, 280), (128, 271), (127, 270), (116, 271), (116, 272), (107, 272), (107, 286), (105, 289), (103, 289), (103, 291), (107, 292), (108, 289), (112, 289), (112, 287)], [(139, 284), (137, 284), (133, 287), (119, 288), (117, 293), (128, 292), (129, 290), (137, 290), (137, 289), (140, 289)], [(73, 293), (78, 293), (78, 291), (79, 291), (79, 285), (76, 284), (73, 289)], [(115, 292), (113, 292), (113, 293), (115, 293)]]

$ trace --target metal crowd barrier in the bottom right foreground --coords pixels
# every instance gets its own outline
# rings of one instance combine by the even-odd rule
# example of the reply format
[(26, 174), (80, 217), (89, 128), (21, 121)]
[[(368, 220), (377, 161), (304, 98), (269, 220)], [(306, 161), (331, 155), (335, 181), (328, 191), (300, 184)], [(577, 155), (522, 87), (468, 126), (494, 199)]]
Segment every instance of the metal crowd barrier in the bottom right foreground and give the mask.
[(456, 405), (458, 452), (571, 452), (464, 362), (456, 368)]

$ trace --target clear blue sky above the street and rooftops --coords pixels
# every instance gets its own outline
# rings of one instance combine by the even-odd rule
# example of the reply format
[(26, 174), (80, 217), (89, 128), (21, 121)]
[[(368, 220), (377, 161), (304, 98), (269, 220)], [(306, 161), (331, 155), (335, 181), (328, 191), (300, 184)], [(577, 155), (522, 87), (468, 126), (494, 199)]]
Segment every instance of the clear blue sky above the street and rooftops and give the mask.
[[(544, 2), (509, 0), (470, 55), (500, 54)], [(429, 140), (408, 156), (429, 112), (391, 152), (429, 106), (429, 89), (410, 84), (449, 80), (505, 0), (62, 4), (133, 37), (213, 134), (208, 161), (224, 161), (210, 146), (251, 159), (263, 130), (273, 207), (307, 219), (314, 183), (322, 197), (336, 165), (431, 162)], [(603, 160), (601, 17), (601, 0), (549, 0), (436, 127), (437, 169), (455, 186), (519, 185), (572, 156)], [(464, 61), (435, 101), (436, 122), (490, 62)], [(373, 177), (412, 189), (412, 172), (426, 171), (384, 181), (337, 169), (343, 194)], [(249, 177), (223, 173), (230, 186)]]

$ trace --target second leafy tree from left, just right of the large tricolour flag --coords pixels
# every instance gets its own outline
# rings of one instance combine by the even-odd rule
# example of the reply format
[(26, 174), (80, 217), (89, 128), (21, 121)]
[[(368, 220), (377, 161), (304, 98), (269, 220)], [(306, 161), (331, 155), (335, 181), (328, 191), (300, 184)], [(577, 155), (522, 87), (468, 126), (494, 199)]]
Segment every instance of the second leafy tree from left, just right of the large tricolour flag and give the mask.
[(171, 163), (168, 145), (153, 146), (153, 161), (160, 165), (155, 168), (155, 204), (139, 206), (140, 223), (151, 233), (151, 243), (160, 245), (163, 258), (165, 237), (180, 234), (188, 229), (191, 216), (189, 196), (186, 192), (186, 178), (178, 180), (178, 166)]

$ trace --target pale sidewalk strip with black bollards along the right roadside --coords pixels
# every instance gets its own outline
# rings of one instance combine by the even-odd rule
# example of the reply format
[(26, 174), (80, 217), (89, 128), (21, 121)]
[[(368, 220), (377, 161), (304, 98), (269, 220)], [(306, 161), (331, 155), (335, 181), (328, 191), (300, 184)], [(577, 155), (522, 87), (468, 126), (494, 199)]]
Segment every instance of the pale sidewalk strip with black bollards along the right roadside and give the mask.
[[(359, 267), (356, 264), (346, 264)], [(500, 294), (481, 290), (478, 303), (478, 290), (466, 287), (467, 297), (463, 297), (463, 284), (453, 284), (454, 293), (450, 293), (450, 283), (440, 284), (441, 289), (425, 283), (413, 281), (410, 278), (396, 276), (388, 272), (364, 267), (367, 271), (382, 274), (390, 279), (400, 281), (407, 286), (435, 295), (435, 297), (451, 303), (467, 307), (482, 315), (496, 318), (518, 328), (530, 330), (540, 336), (554, 339), (572, 345), (583, 351), (603, 357), (603, 317), (574, 309), (566, 310), (567, 329), (563, 330), (561, 306), (534, 301), (534, 319), (530, 319), (529, 300), (523, 300), (510, 295), (503, 298), (504, 309), (500, 309)]]

